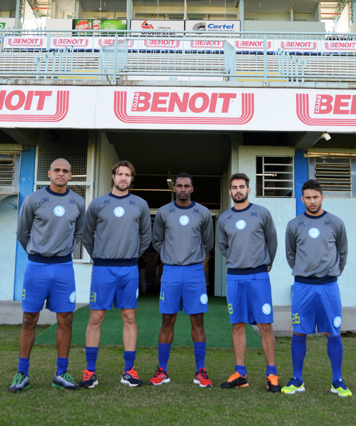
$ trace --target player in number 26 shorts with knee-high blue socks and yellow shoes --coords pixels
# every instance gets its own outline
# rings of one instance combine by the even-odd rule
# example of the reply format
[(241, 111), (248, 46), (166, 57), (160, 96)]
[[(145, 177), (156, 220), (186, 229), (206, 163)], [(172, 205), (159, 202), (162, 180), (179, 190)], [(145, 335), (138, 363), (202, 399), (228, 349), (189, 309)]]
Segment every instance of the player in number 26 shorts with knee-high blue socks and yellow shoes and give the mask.
[(282, 387), (283, 394), (304, 392), (303, 363), (306, 335), (325, 332), (333, 372), (331, 391), (340, 397), (352, 394), (341, 376), (341, 299), (337, 277), (347, 257), (344, 222), (322, 209), (324, 194), (318, 181), (310, 179), (302, 187), (305, 212), (287, 225), (286, 255), (294, 275), (292, 296), (293, 377)]

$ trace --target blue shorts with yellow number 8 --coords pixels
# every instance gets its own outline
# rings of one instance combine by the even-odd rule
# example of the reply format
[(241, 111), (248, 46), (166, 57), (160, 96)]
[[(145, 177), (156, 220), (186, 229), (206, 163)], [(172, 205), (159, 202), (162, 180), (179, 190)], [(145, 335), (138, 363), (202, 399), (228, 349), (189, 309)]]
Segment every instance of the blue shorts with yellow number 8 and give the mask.
[(251, 275), (227, 274), (227, 309), (230, 323), (273, 322), (271, 283), (268, 272)]

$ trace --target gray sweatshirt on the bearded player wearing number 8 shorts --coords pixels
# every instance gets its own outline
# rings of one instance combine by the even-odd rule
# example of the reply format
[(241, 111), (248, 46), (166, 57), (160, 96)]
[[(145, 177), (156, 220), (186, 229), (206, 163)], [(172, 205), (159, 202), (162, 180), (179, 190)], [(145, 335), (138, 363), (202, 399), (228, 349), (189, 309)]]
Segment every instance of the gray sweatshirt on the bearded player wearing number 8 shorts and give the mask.
[(232, 207), (219, 217), (217, 235), (228, 274), (256, 274), (272, 268), (277, 232), (266, 208), (252, 203), (242, 210)]

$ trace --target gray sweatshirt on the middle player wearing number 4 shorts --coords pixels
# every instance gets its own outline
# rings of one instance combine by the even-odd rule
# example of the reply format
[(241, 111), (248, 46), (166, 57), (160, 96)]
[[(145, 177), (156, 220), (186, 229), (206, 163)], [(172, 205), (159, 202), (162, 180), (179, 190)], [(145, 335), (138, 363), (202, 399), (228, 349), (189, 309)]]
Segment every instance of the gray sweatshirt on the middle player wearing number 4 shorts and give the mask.
[(166, 204), (157, 211), (152, 244), (165, 265), (201, 263), (214, 245), (210, 211), (194, 201), (188, 207)]

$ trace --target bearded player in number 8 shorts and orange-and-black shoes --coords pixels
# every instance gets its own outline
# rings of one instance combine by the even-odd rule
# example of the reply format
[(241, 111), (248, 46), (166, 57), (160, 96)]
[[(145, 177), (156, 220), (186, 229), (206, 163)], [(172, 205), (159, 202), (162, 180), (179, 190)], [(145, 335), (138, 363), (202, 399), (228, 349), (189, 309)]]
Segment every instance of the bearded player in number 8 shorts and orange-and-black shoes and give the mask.
[(276, 369), (275, 336), (271, 283), (268, 272), (277, 251), (277, 233), (269, 210), (252, 204), (250, 179), (236, 173), (229, 179), (233, 207), (218, 221), (218, 243), (226, 257), (227, 307), (232, 324), (235, 373), (222, 383), (223, 388), (248, 386), (245, 367), (246, 324), (257, 324), (266, 359), (267, 388), (279, 392)]

